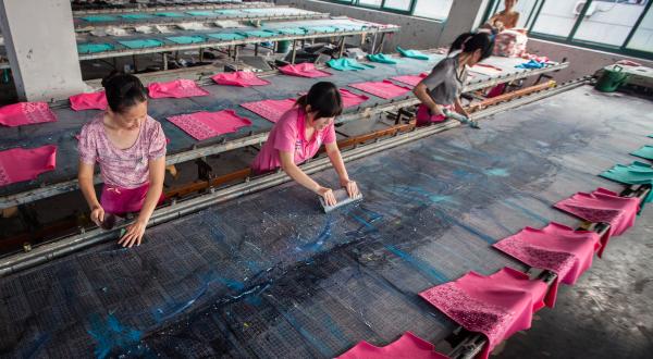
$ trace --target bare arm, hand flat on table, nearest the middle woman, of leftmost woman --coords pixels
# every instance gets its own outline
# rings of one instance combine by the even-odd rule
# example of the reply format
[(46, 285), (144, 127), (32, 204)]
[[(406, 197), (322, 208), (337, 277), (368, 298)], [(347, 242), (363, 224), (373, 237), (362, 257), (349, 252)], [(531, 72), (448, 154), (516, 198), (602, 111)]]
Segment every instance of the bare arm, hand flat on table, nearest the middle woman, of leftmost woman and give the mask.
[(152, 216), (161, 193), (163, 191), (163, 178), (165, 176), (165, 156), (149, 160), (149, 188), (145, 196), (145, 202), (136, 222), (127, 227), (125, 235), (118, 242), (123, 247), (132, 247), (134, 244), (140, 245), (145, 228), (149, 219)]

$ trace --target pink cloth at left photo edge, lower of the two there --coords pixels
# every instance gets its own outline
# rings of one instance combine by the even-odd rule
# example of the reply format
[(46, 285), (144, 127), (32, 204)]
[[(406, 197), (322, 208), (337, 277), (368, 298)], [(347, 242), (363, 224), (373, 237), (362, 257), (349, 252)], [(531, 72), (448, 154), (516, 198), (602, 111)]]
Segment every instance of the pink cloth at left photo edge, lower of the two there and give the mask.
[(0, 187), (35, 180), (57, 166), (57, 146), (12, 148), (0, 152)]

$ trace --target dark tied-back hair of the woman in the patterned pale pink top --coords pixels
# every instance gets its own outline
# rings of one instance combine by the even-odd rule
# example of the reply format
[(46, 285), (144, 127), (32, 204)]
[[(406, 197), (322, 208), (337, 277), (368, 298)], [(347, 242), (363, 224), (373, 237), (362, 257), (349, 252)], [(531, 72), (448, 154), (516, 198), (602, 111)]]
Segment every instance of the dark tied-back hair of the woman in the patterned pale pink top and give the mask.
[(147, 100), (147, 91), (138, 77), (112, 71), (102, 78), (107, 102), (111, 111), (122, 113), (126, 109)]

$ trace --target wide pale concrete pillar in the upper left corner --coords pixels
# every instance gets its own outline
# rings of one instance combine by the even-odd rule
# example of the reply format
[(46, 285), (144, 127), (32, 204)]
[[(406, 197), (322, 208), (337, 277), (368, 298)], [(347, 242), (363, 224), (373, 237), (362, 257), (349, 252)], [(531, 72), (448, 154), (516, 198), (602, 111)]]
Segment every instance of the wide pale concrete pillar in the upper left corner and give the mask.
[(21, 100), (59, 100), (86, 88), (70, 0), (1, 0), (0, 29)]

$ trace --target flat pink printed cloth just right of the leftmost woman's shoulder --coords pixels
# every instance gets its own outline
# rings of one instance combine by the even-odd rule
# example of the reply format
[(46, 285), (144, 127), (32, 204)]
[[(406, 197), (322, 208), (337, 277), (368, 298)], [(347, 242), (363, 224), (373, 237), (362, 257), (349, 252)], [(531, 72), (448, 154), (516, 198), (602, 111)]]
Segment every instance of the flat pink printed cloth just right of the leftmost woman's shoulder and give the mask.
[(174, 123), (197, 140), (236, 132), (241, 127), (251, 125), (251, 121), (238, 116), (233, 110), (195, 112), (168, 117), (168, 121)]

